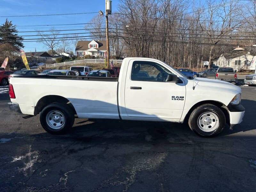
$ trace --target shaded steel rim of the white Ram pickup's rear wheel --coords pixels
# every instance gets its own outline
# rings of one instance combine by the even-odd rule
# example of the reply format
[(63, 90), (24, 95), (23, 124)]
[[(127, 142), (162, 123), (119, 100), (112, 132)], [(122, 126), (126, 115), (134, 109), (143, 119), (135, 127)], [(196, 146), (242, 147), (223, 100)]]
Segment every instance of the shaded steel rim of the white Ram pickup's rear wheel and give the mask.
[(65, 125), (65, 116), (60, 111), (50, 111), (46, 115), (46, 123), (52, 129), (62, 129)]

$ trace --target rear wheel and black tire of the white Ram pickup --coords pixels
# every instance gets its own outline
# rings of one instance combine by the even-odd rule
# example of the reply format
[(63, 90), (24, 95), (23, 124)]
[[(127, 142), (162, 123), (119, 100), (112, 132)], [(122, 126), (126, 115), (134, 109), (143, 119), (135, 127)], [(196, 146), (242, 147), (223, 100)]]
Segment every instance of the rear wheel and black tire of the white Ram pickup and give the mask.
[[(58, 128), (58, 127), (52, 128), (50, 126), (51, 125), (51, 123), (49, 122), (50, 120), (48, 120), (48, 122), (47, 122), (47, 119), (49, 118), (50, 114), (53, 114), (54, 111), (57, 113), (60, 112), (59, 117), (61, 119), (64, 119), (63, 121), (61, 121), (61, 119), (57, 119), (57, 121), (60, 120), (60, 122), (56, 121), (57, 123), (60, 123), (60, 128)], [(48, 116), (48, 118), (47, 118), (47, 116)], [(51, 117), (49, 119), (51, 119)], [(53, 123), (53, 121), (54, 120), (52, 120), (51, 122)], [(41, 114), (40, 114), (40, 123), (41, 123), (42, 127), (44, 128), (45, 131), (47, 131), (48, 133), (51, 133), (51, 134), (67, 133), (68, 130), (73, 126), (74, 121), (75, 121), (74, 110), (71, 107), (69, 107), (67, 104), (52, 103), (50, 105), (47, 105), (41, 111)], [(61, 122), (63, 124), (61, 124)], [(54, 125), (52, 125), (52, 126), (54, 126)]]

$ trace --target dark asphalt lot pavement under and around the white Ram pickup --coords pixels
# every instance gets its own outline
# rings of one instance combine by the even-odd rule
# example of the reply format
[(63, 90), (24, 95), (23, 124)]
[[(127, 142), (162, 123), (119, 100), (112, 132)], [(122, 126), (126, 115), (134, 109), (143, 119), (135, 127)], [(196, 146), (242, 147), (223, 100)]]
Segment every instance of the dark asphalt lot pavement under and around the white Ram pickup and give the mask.
[(0, 94), (0, 191), (253, 191), (256, 87), (244, 121), (215, 138), (187, 125), (76, 119), (68, 135), (13, 115)]

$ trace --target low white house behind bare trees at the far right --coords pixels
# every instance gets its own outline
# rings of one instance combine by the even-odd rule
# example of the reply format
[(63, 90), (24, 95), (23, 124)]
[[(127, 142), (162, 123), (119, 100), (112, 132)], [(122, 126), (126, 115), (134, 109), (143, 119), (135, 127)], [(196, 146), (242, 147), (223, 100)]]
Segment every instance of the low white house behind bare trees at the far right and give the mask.
[(250, 53), (224, 53), (213, 59), (213, 64), (219, 67), (232, 67), (235, 70), (250, 69), (253, 56)]

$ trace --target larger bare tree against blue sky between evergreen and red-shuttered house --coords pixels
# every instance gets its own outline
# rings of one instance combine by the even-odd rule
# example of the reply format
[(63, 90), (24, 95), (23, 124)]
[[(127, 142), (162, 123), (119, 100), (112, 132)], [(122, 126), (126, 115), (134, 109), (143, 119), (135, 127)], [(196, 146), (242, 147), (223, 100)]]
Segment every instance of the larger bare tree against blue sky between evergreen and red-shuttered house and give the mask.
[(60, 34), (59, 31), (56, 31), (56, 29), (51, 28), (50, 32), (47, 32), (48, 34), (44, 34), (40, 31), (37, 31), (37, 35), (41, 37), (40, 40), (38, 40), (38, 43), (43, 43), (47, 49), (51, 50), (51, 55), (53, 55), (53, 49), (55, 47), (58, 47), (60, 40), (57, 39), (58, 34)]

